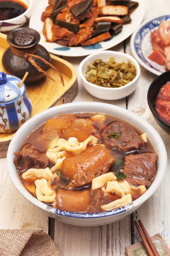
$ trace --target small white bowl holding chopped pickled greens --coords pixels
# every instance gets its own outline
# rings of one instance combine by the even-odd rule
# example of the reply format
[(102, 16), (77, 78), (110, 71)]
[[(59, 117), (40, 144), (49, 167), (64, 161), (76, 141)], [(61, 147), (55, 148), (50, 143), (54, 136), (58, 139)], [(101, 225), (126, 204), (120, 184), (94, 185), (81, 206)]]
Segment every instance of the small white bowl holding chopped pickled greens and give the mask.
[[(95, 61), (96, 59), (108, 61), (111, 57), (114, 57), (116, 62), (127, 62), (127, 60), (130, 60), (132, 64), (135, 65), (136, 77), (133, 79), (133, 81), (119, 88), (107, 88), (91, 84), (85, 79), (85, 72), (87, 71), (87, 66), (91, 61)], [(133, 93), (138, 84), (140, 73), (141, 71), (138, 62), (132, 56), (122, 52), (103, 51), (94, 53), (86, 57), (79, 65), (79, 74), (82, 79), (82, 83), (85, 89), (88, 91), (88, 93), (99, 99), (106, 100), (122, 99)]]

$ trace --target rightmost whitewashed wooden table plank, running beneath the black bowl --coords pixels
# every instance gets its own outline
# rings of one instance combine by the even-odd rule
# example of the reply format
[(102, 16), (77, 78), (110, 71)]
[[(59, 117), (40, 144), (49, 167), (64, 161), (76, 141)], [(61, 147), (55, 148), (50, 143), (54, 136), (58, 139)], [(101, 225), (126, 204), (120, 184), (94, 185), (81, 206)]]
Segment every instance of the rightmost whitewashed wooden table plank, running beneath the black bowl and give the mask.
[[(169, 0), (164, 0), (160, 4), (159, 0), (147, 1), (147, 9), (144, 17), (144, 21), (150, 20), (153, 17), (163, 15), (167, 13), (169, 9)], [(151, 16), (151, 11), (152, 15)], [(127, 41), (127, 53), (132, 55), (130, 51), (130, 44)], [(134, 93), (128, 97), (127, 109), (133, 111), (134, 113), (142, 116), (147, 120), (156, 131), (159, 132), (162, 139), (164, 140), (165, 146), (167, 148), (168, 159), (170, 156), (170, 136), (168, 136), (153, 119), (150, 112), (149, 106), (147, 104), (147, 90), (156, 76), (141, 67), (141, 76), (139, 79), (139, 84)], [(133, 220), (136, 218), (141, 218), (144, 226), (146, 227), (150, 236), (156, 233), (160, 233), (167, 245), (170, 246), (169, 229), (170, 229), (170, 162), (168, 162), (167, 172), (164, 180), (159, 186), (159, 189), (155, 194), (149, 198), (136, 212), (131, 216), (132, 220), (132, 243), (140, 241), (139, 235), (133, 225)]]

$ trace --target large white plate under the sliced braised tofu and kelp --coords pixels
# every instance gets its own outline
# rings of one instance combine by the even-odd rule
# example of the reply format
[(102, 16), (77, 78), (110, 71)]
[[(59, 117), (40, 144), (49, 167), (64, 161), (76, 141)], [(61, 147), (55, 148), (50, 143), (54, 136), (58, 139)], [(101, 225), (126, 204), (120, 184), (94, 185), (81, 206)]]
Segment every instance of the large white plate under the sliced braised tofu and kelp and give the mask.
[(48, 52), (62, 56), (85, 56), (91, 53), (96, 53), (102, 50), (109, 49), (128, 38), (135, 29), (140, 25), (143, 20), (145, 12), (145, 2), (144, 0), (138, 0), (138, 8), (130, 15), (132, 22), (130, 24), (123, 25), (122, 32), (118, 35), (113, 36), (111, 39), (102, 41), (101, 43), (95, 45), (89, 45), (86, 47), (64, 47), (57, 43), (48, 43), (45, 41), (45, 37), (42, 34), (43, 22), (41, 21), (42, 12), (45, 11), (45, 7), (48, 6), (48, 0), (40, 1), (37, 8), (31, 15), (29, 27), (31, 29), (37, 30), (41, 35), (40, 44), (45, 47)]

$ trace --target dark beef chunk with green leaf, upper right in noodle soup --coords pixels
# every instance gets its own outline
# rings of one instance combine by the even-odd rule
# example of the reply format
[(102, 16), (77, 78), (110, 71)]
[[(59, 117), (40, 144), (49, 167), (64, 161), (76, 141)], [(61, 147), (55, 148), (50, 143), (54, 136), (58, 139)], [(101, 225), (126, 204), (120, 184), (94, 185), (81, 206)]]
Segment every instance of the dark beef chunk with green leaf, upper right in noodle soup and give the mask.
[(110, 148), (120, 152), (139, 150), (145, 146), (144, 141), (127, 122), (113, 122), (101, 134), (102, 140)]

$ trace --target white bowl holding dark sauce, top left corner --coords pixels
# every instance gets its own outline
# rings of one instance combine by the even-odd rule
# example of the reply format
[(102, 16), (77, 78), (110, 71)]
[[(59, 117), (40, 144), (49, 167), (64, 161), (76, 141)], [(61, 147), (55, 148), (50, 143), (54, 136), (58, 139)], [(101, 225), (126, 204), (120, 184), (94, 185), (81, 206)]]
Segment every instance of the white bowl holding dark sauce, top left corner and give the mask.
[(0, 20), (0, 32), (6, 32), (17, 29), (20, 26), (23, 26), (31, 17), (33, 11), (33, 0), (22, 0), (22, 2), (26, 3), (26, 5), (28, 6), (26, 12), (10, 20)]

